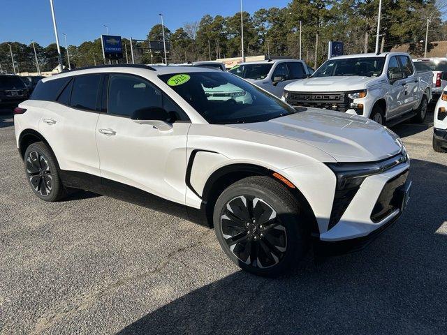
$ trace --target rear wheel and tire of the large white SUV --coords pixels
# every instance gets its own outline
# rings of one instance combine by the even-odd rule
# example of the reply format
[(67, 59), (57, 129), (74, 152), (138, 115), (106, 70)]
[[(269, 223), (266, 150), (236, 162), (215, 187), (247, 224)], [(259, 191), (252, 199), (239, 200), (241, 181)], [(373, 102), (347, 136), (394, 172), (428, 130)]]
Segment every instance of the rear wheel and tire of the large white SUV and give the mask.
[(24, 170), (31, 190), (41, 200), (54, 202), (66, 196), (56, 157), (45, 143), (29, 145), (24, 154)]

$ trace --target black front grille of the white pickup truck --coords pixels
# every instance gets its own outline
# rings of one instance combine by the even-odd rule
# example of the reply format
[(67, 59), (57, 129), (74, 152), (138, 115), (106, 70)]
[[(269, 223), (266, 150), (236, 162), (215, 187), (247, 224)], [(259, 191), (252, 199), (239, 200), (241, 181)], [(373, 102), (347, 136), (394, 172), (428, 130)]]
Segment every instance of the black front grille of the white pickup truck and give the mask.
[(351, 101), (345, 93), (304, 93), (289, 92), (287, 103), (293, 106), (325, 108), (327, 110), (338, 110), (346, 112), (349, 110)]

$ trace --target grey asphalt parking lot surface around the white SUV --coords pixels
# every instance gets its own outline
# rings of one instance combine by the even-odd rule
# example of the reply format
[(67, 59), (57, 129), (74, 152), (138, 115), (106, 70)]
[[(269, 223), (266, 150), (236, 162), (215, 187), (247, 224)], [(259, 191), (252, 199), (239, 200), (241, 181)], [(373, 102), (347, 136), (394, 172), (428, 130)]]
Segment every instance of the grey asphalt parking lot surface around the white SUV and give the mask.
[(176, 216), (89, 192), (38, 200), (3, 112), (0, 333), (446, 334), (447, 154), (432, 150), (429, 121), (393, 128), (413, 193), (392, 228), (360, 253), (268, 279)]

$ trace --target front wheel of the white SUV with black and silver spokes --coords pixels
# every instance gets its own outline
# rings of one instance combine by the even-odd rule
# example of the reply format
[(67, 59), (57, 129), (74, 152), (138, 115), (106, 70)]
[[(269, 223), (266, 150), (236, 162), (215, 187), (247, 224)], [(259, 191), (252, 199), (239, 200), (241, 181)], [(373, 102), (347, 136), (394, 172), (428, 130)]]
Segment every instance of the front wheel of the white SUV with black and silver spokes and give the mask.
[(304, 257), (309, 244), (302, 207), (270, 177), (247, 177), (224, 190), (214, 205), (217, 239), (236, 265), (277, 276)]

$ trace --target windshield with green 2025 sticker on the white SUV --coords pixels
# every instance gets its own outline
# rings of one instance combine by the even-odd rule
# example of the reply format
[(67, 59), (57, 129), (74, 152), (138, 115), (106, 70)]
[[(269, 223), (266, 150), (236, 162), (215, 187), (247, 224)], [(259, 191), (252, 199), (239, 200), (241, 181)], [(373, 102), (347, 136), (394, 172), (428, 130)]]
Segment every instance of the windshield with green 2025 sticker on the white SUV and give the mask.
[(171, 73), (159, 77), (210, 124), (262, 122), (296, 112), (230, 73)]

